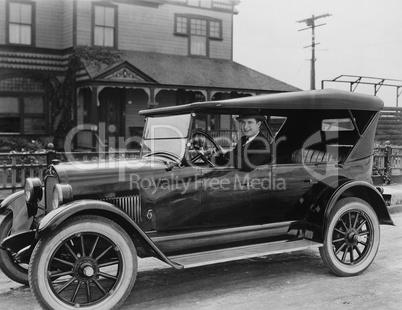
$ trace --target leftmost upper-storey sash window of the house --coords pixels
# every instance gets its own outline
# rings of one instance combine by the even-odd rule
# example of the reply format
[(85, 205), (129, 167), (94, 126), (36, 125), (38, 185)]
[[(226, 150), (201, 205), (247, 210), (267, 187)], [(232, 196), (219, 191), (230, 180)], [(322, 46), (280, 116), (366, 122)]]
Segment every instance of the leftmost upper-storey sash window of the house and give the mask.
[(32, 45), (34, 7), (30, 2), (8, 2), (8, 42)]

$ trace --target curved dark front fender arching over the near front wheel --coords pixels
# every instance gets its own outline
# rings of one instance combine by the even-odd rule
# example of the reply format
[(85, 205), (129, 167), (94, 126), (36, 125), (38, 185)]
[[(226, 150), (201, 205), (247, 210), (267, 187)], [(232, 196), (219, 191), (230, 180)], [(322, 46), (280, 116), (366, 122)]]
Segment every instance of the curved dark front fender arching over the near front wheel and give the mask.
[(36, 238), (40, 239), (44, 234), (54, 230), (68, 218), (79, 214), (101, 214), (108, 218), (113, 218), (120, 226), (122, 226), (129, 235), (134, 235), (144, 244), (148, 245), (157, 258), (171, 265), (176, 269), (182, 266), (170, 261), (165, 254), (152, 242), (144, 231), (121, 209), (115, 205), (98, 200), (75, 200), (66, 203), (56, 210), (48, 213), (39, 223), (36, 232)]

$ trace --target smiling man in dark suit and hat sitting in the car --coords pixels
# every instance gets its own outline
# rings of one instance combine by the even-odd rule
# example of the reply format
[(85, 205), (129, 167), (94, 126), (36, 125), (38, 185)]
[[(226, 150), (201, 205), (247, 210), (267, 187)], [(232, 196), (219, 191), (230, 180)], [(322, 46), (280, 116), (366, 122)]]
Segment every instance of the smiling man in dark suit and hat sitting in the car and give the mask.
[(243, 136), (235, 148), (225, 154), (225, 158), (241, 171), (251, 171), (257, 166), (271, 161), (271, 150), (267, 138), (260, 131), (265, 116), (243, 114), (237, 117)]

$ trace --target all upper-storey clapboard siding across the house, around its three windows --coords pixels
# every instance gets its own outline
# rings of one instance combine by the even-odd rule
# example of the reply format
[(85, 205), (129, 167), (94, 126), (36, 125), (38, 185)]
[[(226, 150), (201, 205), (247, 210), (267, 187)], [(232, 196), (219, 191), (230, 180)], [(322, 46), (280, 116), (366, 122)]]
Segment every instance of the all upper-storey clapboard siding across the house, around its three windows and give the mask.
[[(67, 49), (74, 44), (74, 1), (35, 1), (34, 47)], [(76, 44), (92, 45), (92, 4), (76, 4)], [(99, 3), (99, 1), (96, 1)], [(118, 49), (187, 56), (189, 39), (174, 35), (175, 14), (196, 15), (222, 21), (222, 40), (210, 40), (209, 57), (231, 59), (232, 14), (208, 8), (165, 3), (156, 7), (116, 3)], [(0, 44), (7, 44), (6, 1), (0, 1)]]

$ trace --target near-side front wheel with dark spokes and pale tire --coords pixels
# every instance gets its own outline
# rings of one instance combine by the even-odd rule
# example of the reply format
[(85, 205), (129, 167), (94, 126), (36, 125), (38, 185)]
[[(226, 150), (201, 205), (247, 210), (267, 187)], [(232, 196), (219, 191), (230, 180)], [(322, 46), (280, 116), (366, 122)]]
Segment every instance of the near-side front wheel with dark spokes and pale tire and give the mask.
[(46, 309), (116, 309), (137, 276), (137, 253), (115, 222), (82, 215), (39, 240), (29, 263), (29, 283)]

